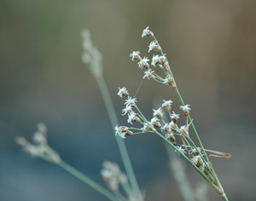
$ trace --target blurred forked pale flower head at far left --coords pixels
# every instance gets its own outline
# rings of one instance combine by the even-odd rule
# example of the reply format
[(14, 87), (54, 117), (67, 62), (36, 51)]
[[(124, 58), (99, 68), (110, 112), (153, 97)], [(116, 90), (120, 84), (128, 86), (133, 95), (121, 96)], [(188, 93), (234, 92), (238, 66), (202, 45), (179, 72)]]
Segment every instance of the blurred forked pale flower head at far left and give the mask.
[(22, 146), (23, 151), (30, 153), (32, 157), (43, 158), (54, 164), (60, 164), (61, 158), (57, 152), (55, 152), (47, 144), (47, 129), (44, 123), (38, 123), (38, 130), (33, 135), (34, 144), (26, 141), (23, 137), (16, 137), (17, 144)]

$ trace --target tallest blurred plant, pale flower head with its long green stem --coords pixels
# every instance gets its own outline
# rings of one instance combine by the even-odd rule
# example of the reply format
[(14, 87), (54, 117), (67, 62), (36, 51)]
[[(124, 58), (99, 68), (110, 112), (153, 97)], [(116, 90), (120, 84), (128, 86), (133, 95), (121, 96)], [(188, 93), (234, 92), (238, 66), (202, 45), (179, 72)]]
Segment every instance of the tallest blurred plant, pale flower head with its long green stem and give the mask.
[[(118, 122), (116, 113), (114, 111), (113, 102), (109, 95), (107, 84), (103, 78), (102, 55), (92, 45), (92, 42), (90, 40), (90, 32), (88, 30), (84, 30), (84, 32), (82, 32), (82, 36), (83, 36), (83, 47), (84, 47), (84, 54), (82, 55), (82, 60), (84, 64), (88, 66), (92, 76), (96, 78), (96, 83), (98, 84), (98, 87), (102, 93), (102, 98), (107, 108), (108, 117), (110, 119), (110, 123), (112, 125), (113, 133), (114, 133), (115, 126), (118, 125), (119, 122)], [(135, 193), (135, 196), (138, 198), (138, 200), (141, 200), (142, 195), (137, 184), (136, 176), (131, 166), (131, 160), (129, 158), (129, 155), (125, 146), (125, 141), (123, 139), (120, 139), (119, 137), (115, 137), (115, 139), (119, 147), (119, 152), (125, 166), (125, 172), (128, 176), (129, 181), (131, 182), (131, 188)]]

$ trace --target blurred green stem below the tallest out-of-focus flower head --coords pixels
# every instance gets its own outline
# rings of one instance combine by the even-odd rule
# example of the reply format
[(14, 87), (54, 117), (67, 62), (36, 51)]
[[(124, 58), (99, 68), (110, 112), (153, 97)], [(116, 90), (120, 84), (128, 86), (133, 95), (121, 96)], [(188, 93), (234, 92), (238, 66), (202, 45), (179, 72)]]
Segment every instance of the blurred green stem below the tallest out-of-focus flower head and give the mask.
[[(107, 84), (105, 83), (104, 78), (102, 77), (96, 77), (96, 82), (101, 90), (102, 93), (102, 98), (104, 100), (105, 106), (107, 108), (108, 111), (108, 116), (110, 119), (110, 123), (112, 125), (112, 128), (114, 130), (115, 126), (119, 124), (118, 122), (118, 118), (116, 116), (116, 113), (114, 111), (114, 107), (113, 107), (113, 102), (111, 100), (111, 97), (108, 93), (108, 88), (107, 88)], [(141, 197), (141, 192), (140, 189), (138, 187), (137, 184), (137, 179), (136, 176), (134, 174), (134, 171), (132, 169), (131, 166), (131, 160), (129, 158), (126, 146), (125, 146), (125, 141), (120, 138), (120, 137), (116, 137), (115, 138), (117, 141), (117, 145), (119, 147), (119, 152), (121, 155), (121, 158), (123, 160), (124, 166), (125, 166), (125, 171), (127, 173), (127, 176), (129, 178), (129, 181), (131, 182), (131, 187), (133, 188), (133, 191), (137, 193), (138, 198)]]

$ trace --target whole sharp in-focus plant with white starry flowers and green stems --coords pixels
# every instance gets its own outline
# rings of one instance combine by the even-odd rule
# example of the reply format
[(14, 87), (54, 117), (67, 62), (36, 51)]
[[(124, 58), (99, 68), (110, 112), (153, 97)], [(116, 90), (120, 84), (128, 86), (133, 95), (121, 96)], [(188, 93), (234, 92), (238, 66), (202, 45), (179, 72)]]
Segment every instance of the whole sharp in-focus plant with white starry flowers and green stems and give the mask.
[[(119, 135), (121, 138), (125, 138), (126, 135), (140, 135), (145, 133), (153, 133), (154, 135), (159, 136), (163, 141), (166, 141), (169, 146), (172, 146), (178, 155), (185, 158), (189, 164), (191, 164), (192, 167), (194, 167), (195, 170), (212, 185), (224, 200), (228, 200), (224, 193), (224, 188), (213, 169), (210, 157), (230, 158), (230, 154), (215, 152), (204, 148), (195, 129), (193, 120), (190, 117), (190, 105), (184, 103), (183, 98), (177, 89), (177, 84), (172, 74), (170, 64), (166, 58), (166, 54), (164, 54), (160, 47), (160, 43), (148, 27), (143, 30), (142, 37), (150, 37), (152, 39), (148, 45), (148, 53), (150, 51), (155, 52), (155, 55), (153, 55), (151, 59), (151, 64), (149, 64), (148, 57), (142, 56), (139, 51), (133, 51), (130, 54), (131, 60), (137, 61), (139, 69), (144, 69), (143, 79), (152, 79), (158, 83), (171, 86), (172, 89), (175, 90), (181, 102), (179, 108), (182, 111), (184, 118), (186, 118), (186, 123), (180, 125), (178, 122), (181, 114), (172, 111), (172, 100), (163, 100), (160, 108), (153, 109), (153, 117), (146, 118), (137, 106), (137, 99), (132, 97), (128, 90), (123, 87), (121, 89), (119, 88), (118, 95), (125, 98), (125, 109), (123, 109), (122, 112), (123, 115), (128, 116), (128, 123), (131, 123), (132, 126), (116, 126), (116, 135)], [(156, 72), (157, 68), (163, 72), (164, 76), (160, 76)], [(167, 118), (164, 117), (165, 113), (167, 114)], [(190, 138), (189, 130), (194, 132), (196, 141), (193, 141)], [(213, 154), (208, 156), (207, 152), (212, 152)]]

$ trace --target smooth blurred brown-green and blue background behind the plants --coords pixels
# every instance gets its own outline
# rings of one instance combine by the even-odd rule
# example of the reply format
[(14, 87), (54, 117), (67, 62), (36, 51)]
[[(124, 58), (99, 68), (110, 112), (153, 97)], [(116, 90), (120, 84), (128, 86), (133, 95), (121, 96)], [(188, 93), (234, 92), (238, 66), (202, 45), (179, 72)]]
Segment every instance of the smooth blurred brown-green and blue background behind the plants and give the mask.
[[(230, 200), (256, 199), (256, 2), (178, 0), (1, 0), (0, 200), (105, 200), (64, 170), (21, 152), (15, 136), (31, 140), (38, 122), (49, 145), (67, 163), (104, 185), (106, 159), (121, 164), (108, 114), (94, 78), (81, 62), (81, 30), (90, 29), (102, 52), (104, 76), (121, 124), (126, 86), (135, 95), (143, 71), (129, 54), (148, 55), (147, 26), (172, 66), (177, 86)], [(151, 118), (155, 97), (174, 100), (170, 88), (144, 80), (138, 106)], [(183, 200), (154, 135), (125, 140), (146, 200)], [(204, 182), (186, 163), (193, 189)], [(221, 200), (212, 187), (210, 200)]]

